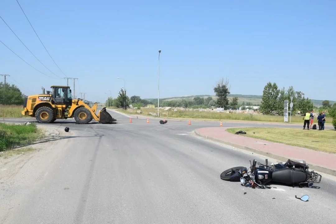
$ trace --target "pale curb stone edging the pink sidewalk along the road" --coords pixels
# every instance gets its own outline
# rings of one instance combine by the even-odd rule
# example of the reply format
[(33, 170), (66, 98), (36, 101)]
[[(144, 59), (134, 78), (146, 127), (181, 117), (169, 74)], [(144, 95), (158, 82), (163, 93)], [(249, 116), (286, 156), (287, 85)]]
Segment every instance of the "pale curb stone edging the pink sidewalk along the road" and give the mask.
[[(224, 143), (224, 144), (236, 147), (236, 148), (240, 148), (240, 149), (243, 149), (243, 150), (246, 150), (246, 151), (250, 151), (250, 152), (260, 154), (260, 155), (264, 155), (264, 156), (267, 156), (269, 158), (272, 158), (272, 159), (275, 159), (275, 160), (278, 160), (278, 161), (281, 161), (281, 162), (287, 161), (288, 159), (297, 160), (297, 159), (294, 159), (294, 158), (287, 158), (287, 157), (284, 157), (284, 156), (281, 156), (281, 155), (265, 152), (265, 151), (262, 151), (262, 150), (259, 150), (259, 149), (250, 148), (250, 147), (246, 147), (246, 146), (243, 146), (243, 145), (235, 144), (235, 143), (228, 142), (228, 141), (225, 141), (225, 140), (220, 140), (218, 138), (213, 138), (213, 137), (209, 137), (209, 136), (206, 136), (206, 135), (201, 135), (197, 131), (197, 129), (195, 130), (195, 134), (197, 136), (205, 138), (205, 139), (209, 139), (209, 140), (219, 142), (219, 143)], [(332, 176), (336, 176), (336, 170), (332, 170), (332, 169), (329, 169), (327, 167), (318, 166), (318, 165), (314, 165), (314, 164), (308, 164), (308, 165), (309, 165), (309, 170), (314, 170), (314, 171), (322, 172), (322, 173), (329, 174), (329, 175), (332, 175)]]

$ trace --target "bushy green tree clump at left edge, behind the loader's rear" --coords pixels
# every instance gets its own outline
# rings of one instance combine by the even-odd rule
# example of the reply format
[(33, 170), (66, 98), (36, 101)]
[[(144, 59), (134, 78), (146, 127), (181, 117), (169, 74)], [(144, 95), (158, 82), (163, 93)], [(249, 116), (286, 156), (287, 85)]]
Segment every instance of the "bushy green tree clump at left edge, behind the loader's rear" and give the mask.
[(23, 105), (24, 95), (15, 85), (0, 82), (0, 104)]

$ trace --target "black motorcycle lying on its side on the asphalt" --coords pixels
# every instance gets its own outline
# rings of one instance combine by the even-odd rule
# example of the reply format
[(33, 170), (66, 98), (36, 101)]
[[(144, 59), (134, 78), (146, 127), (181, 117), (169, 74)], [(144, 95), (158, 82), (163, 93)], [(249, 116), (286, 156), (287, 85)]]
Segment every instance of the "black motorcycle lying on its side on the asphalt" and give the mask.
[[(271, 188), (266, 186), (270, 182), (306, 187), (310, 183), (320, 183), (322, 176), (314, 171), (309, 171), (309, 165), (305, 161), (288, 160), (278, 164), (268, 165), (260, 164), (256, 167), (257, 160), (250, 161), (250, 168), (246, 167), (233, 167), (223, 171), (220, 178), (226, 181), (240, 181), (246, 187), (255, 188)], [(249, 171), (250, 170), (250, 171)]]

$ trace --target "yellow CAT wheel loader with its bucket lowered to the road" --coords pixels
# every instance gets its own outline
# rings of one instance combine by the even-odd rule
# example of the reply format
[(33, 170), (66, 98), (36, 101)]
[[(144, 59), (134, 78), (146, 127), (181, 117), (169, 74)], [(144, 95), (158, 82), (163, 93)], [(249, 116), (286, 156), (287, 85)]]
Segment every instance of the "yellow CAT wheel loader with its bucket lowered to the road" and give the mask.
[(88, 124), (94, 119), (102, 124), (117, 121), (106, 111), (106, 107), (99, 110), (97, 103), (92, 107), (84, 103), (80, 98), (73, 99), (69, 86), (51, 86), (52, 91), (31, 95), (24, 100), (22, 115), (35, 117), (39, 123), (49, 124), (56, 119), (75, 118), (77, 124)]

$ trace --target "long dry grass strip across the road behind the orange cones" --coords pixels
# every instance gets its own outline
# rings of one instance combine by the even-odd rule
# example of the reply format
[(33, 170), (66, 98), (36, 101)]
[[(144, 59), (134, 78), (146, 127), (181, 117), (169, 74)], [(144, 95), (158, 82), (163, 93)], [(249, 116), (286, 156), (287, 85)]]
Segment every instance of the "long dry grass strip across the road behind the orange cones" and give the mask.
[[(137, 109), (133, 110), (123, 110), (122, 108), (117, 109), (118, 111), (125, 114), (137, 114)], [(151, 116), (149, 113), (158, 113), (157, 108), (143, 108), (141, 109), (144, 116)], [(192, 111), (192, 110), (160, 110), (160, 116), (163, 118), (179, 118), (179, 119), (194, 119), (194, 120), (209, 120), (209, 121), (219, 121), (220, 120), (236, 120), (236, 121), (257, 121), (257, 122), (282, 122), (284, 123), (284, 117), (282, 116), (271, 116), (271, 115), (252, 115), (243, 113), (221, 113), (210, 112), (210, 111)], [(292, 116), (292, 123), (301, 123), (303, 125), (302, 116)], [(326, 124), (331, 124), (332, 118), (327, 118)], [(317, 125), (317, 120), (314, 119), (314, 124)]]

